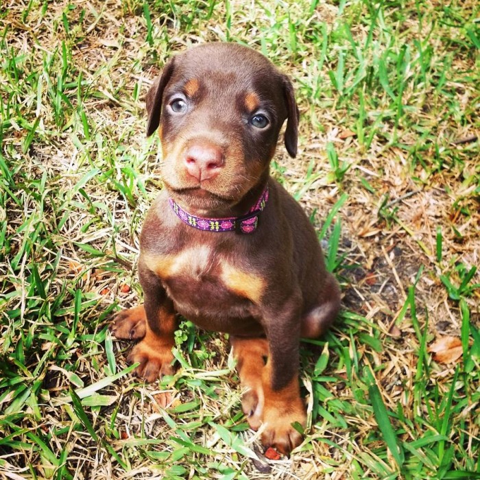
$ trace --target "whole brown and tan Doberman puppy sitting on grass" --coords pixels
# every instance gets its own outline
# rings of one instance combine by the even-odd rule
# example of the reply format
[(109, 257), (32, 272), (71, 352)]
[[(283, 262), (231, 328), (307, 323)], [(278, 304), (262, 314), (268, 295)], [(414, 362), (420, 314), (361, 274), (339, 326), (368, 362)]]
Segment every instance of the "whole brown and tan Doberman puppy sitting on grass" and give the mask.
[(146, 97), (165, 189), (141, 232), (144, 304), (112, 333), (141, 339), (129, 357), (147, 381), (171, 374), (176, 313), (230, 334), (242, 408), (261, 440), (289, 453), (306, 413), (298, 381), (300, 337), (315, 338), (339, 310), (307, 216), (269, 176), (280, 128), (297, 153), (293, 87), (260, 53), (211, 43), (173, 57)]

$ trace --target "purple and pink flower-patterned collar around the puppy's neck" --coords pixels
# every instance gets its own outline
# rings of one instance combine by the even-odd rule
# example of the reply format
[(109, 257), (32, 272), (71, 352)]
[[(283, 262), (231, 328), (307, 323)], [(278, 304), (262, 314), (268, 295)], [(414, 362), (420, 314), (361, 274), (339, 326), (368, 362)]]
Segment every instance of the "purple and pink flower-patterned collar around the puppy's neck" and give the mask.
[(202, 218), (195, 217), (184, 211), (180, 206), (171, 198), (169, 203), (173, 211), (177, 214), (178, 218), (191, 227), (198, 228), (199, 230), (207, 230), (208, 232), (241, 232), (252, 233), (259, 225), (259, 215), (268, 200), (268, 186), (260, 195), (259, 200), (250, 208), (250, 211), (246, 215), (241, 217), (228, 217), (228, 218)]

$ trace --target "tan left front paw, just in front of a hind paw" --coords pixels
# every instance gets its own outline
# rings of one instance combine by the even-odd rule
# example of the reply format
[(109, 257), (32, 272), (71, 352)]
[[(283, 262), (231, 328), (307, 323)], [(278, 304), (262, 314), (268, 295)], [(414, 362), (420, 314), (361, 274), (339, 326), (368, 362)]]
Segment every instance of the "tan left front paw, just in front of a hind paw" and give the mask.
[(136, 376), (147, 382), (154, 382), (163, 375), (173, 374), (173, 353), (171, 347), (160, 346), (152, 348), (145, 340), (136, 344), (132, 352), (128, 355), (130, 363), (139, 362), (140, 365), (135, 369)]

